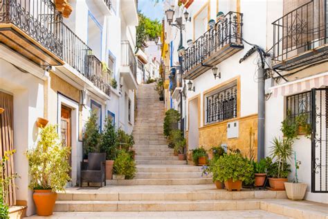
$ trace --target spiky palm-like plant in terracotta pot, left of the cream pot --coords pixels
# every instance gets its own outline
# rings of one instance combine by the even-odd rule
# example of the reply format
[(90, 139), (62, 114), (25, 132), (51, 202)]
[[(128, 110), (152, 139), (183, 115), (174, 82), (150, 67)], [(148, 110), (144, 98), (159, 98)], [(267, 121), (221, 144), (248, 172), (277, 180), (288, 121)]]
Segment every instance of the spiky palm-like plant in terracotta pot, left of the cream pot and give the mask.
[(268, 182), (273, 190), (284, 190), (284, 182), (290, 172), (287, 160), (291, 159), (293, 140), (289, 138), (274, 138), (271, 147), (271, 157), (275, 163), (268, 167)]

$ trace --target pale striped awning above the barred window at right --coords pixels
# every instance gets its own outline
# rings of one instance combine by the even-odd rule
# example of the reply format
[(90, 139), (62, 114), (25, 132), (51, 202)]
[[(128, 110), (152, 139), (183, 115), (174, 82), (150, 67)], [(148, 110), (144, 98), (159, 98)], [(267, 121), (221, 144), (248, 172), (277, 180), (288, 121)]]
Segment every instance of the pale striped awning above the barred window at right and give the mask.
[(271, 87), (270, 90), (273, 93), (273, 97), (277, 97), (278, 95), (289, 96), (292, 94), (298, 94), (303, 91), (309, 91), (312, 88), (320, 88), (325, 86), (328, 86), (328, 72), (294, 80), (292, 82), (286, 82), (282, 85)]

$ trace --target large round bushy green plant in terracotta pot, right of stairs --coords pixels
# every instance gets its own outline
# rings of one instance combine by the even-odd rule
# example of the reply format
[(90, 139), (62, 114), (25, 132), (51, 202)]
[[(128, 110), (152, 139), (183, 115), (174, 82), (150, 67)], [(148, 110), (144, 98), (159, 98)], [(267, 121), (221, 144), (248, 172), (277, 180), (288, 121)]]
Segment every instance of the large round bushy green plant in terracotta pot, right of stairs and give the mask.
[(240, 191), (242, 182), (254, 177), (252, 164), (239, 153), (230, 153), (219, 157), (215, 161), (212, 172), (215, 180), (224, 182), (228, 191)]

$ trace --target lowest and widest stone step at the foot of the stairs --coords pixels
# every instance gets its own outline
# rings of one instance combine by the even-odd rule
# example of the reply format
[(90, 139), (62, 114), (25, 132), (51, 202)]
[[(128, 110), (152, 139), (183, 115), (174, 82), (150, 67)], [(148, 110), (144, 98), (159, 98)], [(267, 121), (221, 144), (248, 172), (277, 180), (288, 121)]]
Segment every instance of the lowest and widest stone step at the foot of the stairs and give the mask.
[(260, 207), (261, 200), (56, 201), (55, 211), (227, 211)]

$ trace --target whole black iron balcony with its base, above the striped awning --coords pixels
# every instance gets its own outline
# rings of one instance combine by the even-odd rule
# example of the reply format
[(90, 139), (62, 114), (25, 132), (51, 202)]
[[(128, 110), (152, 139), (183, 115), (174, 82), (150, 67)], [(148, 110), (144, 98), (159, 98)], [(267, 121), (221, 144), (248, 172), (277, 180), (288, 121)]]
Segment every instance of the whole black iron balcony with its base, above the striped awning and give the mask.
[(289, 71), (328, 58), (328, 0), (312, 0), (273, 24), (273, 69)]

